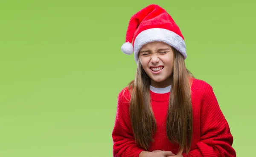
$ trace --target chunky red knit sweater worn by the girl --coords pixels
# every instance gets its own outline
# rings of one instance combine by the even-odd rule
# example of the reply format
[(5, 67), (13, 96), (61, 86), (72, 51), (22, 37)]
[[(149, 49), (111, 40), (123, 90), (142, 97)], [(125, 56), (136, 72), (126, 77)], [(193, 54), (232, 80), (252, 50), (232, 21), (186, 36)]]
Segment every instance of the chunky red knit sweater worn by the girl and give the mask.
[[(125, 87), (127, 89), (127, 87)], [(232, 148), (233, 136), (221, 112), (212, 87), (205, 81), (194, 79), (192, 83), (193, 134), (189, 157), (236, 157)], [(113, 157), (139, 157), (141, 149), (135, 144), (129, 118), (128, 89), (119, 93), (116, 121), (113, 128)], [(157, 121), (157, 132), (150, 150), (172, 151), (177, 154), (178, 145), (169, 142), (166, 135), (166, 116), (169, 93), (151, 93), (151, 106)], [(127, 99), (128, 100), (127, 100)], [(187, 157), (183, 153), (184, 157)]]

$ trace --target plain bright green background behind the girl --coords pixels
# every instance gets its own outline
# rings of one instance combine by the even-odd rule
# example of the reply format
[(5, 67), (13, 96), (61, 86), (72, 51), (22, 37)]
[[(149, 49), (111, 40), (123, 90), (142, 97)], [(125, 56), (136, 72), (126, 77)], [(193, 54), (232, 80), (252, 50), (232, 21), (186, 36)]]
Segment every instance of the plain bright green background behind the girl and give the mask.
[(121, 45), (156, 3), (186, 42), (186, 66), (212, 85), (237, 156), (254, 154), (255, 4), (243, 0), (1, 0), (0, 157), (111, 157), (118, 93), (134, 79)]

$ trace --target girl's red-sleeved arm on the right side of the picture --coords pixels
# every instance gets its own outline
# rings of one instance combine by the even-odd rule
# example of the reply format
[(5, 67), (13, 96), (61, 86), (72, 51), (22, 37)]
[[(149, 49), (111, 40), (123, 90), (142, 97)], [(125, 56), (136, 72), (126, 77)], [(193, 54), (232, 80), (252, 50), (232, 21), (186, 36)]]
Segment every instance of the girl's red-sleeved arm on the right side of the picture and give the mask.
[(212, 87), (206, 84), (201, 106), (201, 142), (184, 157), (236, 157), (233, 136)]

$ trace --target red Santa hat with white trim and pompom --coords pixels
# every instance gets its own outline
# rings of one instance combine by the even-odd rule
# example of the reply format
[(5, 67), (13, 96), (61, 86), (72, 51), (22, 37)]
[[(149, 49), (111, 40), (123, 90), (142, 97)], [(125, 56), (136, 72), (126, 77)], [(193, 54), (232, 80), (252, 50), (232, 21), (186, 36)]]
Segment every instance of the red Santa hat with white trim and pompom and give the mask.
[(180, 28), (163, 8), (151, 4), (131, 17), (121, 50), (128, 55), (134, 52), (137, 63), (140, 48), (154, 41), (165, 42), (186, 59), (186, 45)]

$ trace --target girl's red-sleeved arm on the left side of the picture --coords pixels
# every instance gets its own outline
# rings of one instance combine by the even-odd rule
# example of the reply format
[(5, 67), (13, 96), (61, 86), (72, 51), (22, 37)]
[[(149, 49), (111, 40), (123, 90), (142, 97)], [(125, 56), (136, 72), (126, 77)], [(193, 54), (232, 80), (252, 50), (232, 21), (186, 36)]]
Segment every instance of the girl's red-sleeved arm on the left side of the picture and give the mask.
[(127, 99), (130, 99), (128, 91), (123, 95), (122, 90), (117, 99), (116, 120), (112, 132), (113, 157), (139, 157), (140, 152), (145, 151), (135, 143)]

